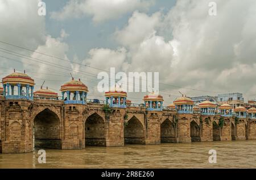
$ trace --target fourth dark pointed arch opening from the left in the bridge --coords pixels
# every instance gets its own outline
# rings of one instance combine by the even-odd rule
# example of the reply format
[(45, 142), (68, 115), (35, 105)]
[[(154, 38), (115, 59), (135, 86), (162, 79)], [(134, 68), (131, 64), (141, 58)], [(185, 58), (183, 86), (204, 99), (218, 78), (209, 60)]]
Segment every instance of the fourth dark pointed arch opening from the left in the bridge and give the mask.
[(176, 142), (176, 129), (174, 123), (170, 119), (164, 120), (160, 127), (161, 143)]

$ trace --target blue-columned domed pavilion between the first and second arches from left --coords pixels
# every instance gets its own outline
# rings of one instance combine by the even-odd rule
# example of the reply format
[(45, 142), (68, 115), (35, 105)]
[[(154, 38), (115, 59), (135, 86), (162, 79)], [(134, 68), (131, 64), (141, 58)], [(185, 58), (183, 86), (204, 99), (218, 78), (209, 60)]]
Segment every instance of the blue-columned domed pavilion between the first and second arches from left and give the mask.
[(76, 81), (72, 78), (72, 81), (60, 87), (60, 91), (64, 104), (86, 104), (88, 87), (81, 82), (81, 79)]

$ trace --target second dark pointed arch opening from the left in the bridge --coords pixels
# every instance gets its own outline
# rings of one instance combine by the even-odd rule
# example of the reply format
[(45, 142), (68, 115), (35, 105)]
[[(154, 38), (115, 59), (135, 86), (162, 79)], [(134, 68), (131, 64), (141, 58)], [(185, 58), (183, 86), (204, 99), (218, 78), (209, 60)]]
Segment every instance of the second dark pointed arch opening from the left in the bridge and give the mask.
[(105, 121), (97, 112), (89, 115), (84, 123), (85, 145), (106, 146)]

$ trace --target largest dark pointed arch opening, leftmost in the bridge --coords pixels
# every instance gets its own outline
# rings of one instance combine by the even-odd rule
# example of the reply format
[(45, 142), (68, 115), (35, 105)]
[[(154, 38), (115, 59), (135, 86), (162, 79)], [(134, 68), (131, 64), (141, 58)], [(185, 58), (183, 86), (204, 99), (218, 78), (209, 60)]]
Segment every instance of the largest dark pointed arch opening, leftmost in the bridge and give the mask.
[(61, 149), (61, 131), (59, 116), (45, 108), (34, 118), (34, 148)]

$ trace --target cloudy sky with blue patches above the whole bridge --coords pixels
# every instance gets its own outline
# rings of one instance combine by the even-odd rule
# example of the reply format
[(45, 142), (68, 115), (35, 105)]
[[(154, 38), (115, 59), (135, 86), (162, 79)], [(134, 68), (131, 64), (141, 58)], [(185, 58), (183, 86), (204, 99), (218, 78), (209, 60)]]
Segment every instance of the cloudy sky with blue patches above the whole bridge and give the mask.
[[(179, 97), (243, 93), (256, 98), (256, 1), (0, 0), (0, 75), (26, 69), (36, 89), (73, 77), (97, 91), (97, 74), (159, 72), (165, 105)], [(59, 93), (59, 92), (58, 92)], [(141, 103), (145, 93), (129, 93)]]

